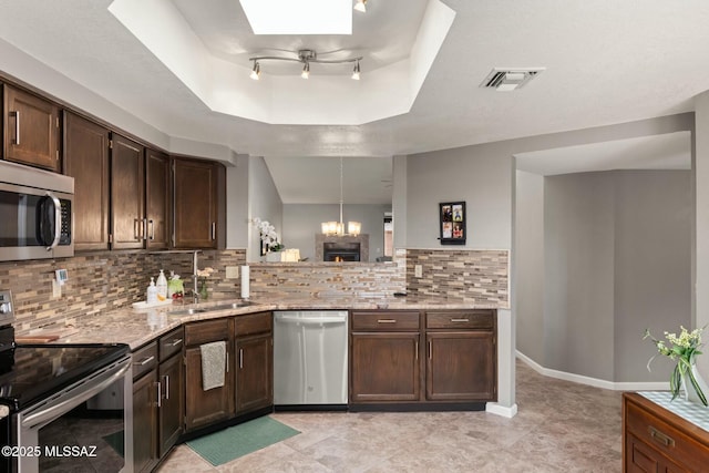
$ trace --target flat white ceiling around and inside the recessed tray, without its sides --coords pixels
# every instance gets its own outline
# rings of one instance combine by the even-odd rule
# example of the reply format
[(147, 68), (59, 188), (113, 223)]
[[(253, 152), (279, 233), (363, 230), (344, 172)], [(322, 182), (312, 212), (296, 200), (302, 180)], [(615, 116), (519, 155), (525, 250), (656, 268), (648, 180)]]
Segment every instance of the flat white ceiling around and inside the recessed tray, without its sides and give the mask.
[[(413, 107), (363, 125), (269, 125), (212, 112), (109, 13), (111, 0), (2, 1), (0, 41), (172, 137), (255, 156), (405, 155), (692, 111), (693, 96), (709, 90), (705, 0), (442, 1), (456, 16)], [(353, 37), (255, 38), (236, 0), (174, 1), (202, 41), (229, 60), (315, 44), (363, 54), (372, 68), (411, 42), (423, 2), (408, 3), (370, 0), (366, 20), (354, 17)], [(160, 31), (160, 18), (148, 20)], [(494, 66), (546, 71), (499, 93), (479, 86)], [(679, 152), (688, 153), (686, 143)]]

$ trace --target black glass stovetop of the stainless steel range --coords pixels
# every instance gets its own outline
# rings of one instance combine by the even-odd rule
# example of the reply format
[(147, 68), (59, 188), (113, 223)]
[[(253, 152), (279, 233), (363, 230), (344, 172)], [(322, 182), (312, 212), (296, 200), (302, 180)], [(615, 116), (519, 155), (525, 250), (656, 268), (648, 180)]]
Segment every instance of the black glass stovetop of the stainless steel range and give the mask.
[(0, 352), (0, 403), (22, 410), (130, 352), (122, 343), (18, 345)]

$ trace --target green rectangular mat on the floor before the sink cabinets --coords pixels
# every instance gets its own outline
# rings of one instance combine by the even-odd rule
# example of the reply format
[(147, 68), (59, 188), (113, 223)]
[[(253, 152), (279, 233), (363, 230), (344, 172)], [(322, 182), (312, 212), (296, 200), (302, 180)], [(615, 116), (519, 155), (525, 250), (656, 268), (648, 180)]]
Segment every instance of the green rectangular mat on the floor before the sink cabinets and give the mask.
[(187, 445), (214, 466), (218, 466), (299, 433), (266, 415), (191, 440)]

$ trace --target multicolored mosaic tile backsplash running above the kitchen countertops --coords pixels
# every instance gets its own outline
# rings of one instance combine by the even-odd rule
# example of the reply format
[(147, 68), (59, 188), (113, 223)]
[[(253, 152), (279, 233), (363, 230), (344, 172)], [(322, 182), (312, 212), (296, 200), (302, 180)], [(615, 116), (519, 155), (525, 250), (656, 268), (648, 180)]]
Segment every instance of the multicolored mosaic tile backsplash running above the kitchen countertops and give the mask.
[[(193, 286), (193, 251), (101, 251), (73, 258), (0, 263), (0, 288), (14, 296), (18, 336), (39, 328), (80, 327), (81, 319), (145, 300), (151, 276), (161, 269), (181, 275)], [(246, 263), (245, 249), (204, 250), (198, 268), (216, 270), (207, 279), (210, 297), (237, 298), (240, 279), (226, 278), (226, 268)], [(422, 266), (422, 278), (414, 277)], [(508, 307), (508, 251), (409, 249), (389, 264), (284, 263), (250, 265), (250, 295), (270, 296), (391, 295), (408, 291), (435, 295), (471, 304)], [(69, 280), (61, 297), (53, 297), (56, 269)]]

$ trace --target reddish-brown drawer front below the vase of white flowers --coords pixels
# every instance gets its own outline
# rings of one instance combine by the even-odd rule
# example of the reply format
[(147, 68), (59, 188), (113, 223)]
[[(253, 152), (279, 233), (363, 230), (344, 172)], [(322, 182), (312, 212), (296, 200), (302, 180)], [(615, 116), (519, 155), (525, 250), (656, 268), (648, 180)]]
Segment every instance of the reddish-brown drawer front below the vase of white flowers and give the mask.
[(625, 409), (626, 431), (653, 450), (690, 471), (702, 471), (709, 464), (706, 444), (633, 402), (626, 402)]

